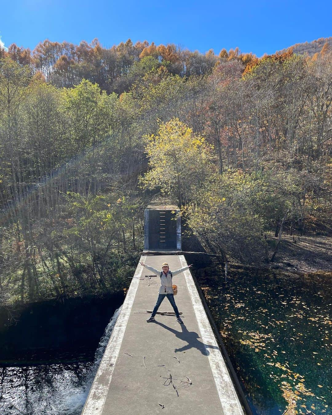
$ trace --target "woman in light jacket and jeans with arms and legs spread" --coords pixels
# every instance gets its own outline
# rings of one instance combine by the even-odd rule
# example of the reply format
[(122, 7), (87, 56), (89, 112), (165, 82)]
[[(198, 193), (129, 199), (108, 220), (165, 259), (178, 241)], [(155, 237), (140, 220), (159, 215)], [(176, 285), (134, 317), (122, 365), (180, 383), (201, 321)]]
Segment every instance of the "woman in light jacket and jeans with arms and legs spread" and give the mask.
[(168, 301), (171, 303), (171, 306), (173, 307), (173, 310), (175, 312), (176, 321), (179, 323), (183, 323), (179, 315), (178, 308), (176, 307), (175, 300), (174, 300), (174, 294), (173, 294), (173, 288), (172, 288), (172, 277), (190, 268), (190, 266), (192, 266), (193, 264), (190, 264), (183, 268), (177, 269), (174, 272), (171, 272), (168, 267), (167, 262), (164, 262), (164, 264), (161, 265), (162, 271), (158, 271), (152, 266), (145, 265), (142, 261), (139, 261), (139, 263), (143, 265), (145, 268), (149, 269), (150, 271), (153, 271), (157, 275), (161, 274), (161, 277), (160, 277), (161, 286), (159, 288), (159, 296), (158, 296), (156, 305), (154, 306), (154, 309), (152, 311), (151, 317), (149, 317), (146, 321), (147, 322), (154, 321), (154, 316), (156, 315), (156, 312), (158, 311), (159, 306), (161, 305), (164, 298), (167, 297)]

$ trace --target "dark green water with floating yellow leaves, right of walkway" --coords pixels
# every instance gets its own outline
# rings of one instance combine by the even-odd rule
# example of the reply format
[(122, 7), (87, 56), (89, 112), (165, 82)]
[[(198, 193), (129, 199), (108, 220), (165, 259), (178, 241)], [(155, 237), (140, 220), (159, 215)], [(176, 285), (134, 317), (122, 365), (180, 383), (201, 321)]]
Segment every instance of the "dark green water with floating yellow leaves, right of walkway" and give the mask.
[(254, 414), (332, 414), (330, 276), (195, 272)]

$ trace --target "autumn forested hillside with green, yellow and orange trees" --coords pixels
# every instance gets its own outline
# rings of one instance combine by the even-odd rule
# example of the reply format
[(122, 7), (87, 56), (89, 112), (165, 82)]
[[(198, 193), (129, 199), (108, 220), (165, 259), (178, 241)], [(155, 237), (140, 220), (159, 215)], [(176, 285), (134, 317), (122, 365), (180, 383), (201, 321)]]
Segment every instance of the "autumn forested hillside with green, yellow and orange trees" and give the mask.
[(257, 59), (46, 40), (1, 56), (3, 303), (125, 287), (155, 194), (181, 206), (187, 244), (242, 263), (273, 260), (285, 229), (331, 234), (328, 44)]

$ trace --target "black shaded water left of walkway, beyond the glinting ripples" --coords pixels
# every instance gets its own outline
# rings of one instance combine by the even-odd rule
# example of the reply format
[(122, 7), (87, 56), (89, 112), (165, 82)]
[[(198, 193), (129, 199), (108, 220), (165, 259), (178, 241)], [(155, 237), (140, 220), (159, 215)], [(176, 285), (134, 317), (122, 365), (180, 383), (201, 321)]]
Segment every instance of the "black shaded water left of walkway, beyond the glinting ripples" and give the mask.
[(0, 308), (0, 366), (93, 361), (123, 292)]

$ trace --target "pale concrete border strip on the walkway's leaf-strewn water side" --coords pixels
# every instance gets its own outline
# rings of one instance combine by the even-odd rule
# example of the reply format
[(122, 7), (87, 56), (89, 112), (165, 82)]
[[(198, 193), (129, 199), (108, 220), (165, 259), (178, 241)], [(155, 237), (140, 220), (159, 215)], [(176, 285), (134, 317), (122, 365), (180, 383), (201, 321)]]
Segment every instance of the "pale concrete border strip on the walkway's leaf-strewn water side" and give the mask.
[[(186, 259), (183, 255), (179, 255), (182, 267), (187, 266)], [(195, 311), (195, 317), (200, 331), (202, 341), (205, 345), (207, 357), (209, 359), (215, 386), (218, 391), (222, 410), (226, 415), (244, 415), (242, 405), (235, 391), (231, 377), (227, 369), (227, 365), (220, 351), (219, 345), (212, 331), (210, 322), (207, 318), (202, 301), (198, 294), (197, 288), (193, 281), (193, 277), (189, 270), (183, 271), (191, 303)], [(209, 348), (206, 345), (215, 346), (217, 348)]]

